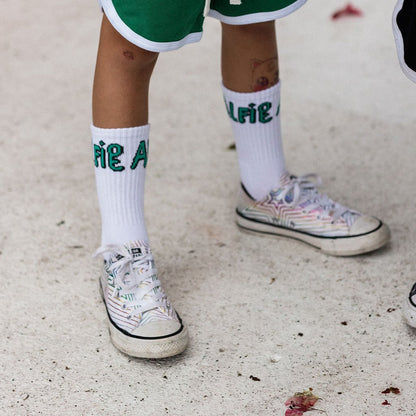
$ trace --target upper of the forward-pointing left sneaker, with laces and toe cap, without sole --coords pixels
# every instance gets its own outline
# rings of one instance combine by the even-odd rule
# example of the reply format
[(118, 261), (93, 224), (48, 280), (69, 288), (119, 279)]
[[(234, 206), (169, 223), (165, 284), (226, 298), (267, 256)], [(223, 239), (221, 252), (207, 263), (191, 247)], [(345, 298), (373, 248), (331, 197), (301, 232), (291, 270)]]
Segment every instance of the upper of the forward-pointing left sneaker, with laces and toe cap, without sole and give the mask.
[(158, 337), (180, 330), (180, 320), (164, 293), (148, 244), (99, 248), (102, 287), (108, 314), (119, 328), (138, 336)]

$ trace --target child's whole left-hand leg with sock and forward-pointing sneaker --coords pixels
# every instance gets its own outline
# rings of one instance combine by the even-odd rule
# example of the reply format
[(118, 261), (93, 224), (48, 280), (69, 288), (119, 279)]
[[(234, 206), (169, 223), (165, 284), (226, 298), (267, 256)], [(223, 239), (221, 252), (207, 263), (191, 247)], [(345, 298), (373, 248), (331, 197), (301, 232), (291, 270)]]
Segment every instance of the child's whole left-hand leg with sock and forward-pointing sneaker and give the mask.
[(92, 138), (102, 218), (101, 288), (111, 339), (136, 357), (182, 352), (187, 330), (157, 277), (144, 223), (148, 91), (158, 54), (134, 46), (103, 19)]

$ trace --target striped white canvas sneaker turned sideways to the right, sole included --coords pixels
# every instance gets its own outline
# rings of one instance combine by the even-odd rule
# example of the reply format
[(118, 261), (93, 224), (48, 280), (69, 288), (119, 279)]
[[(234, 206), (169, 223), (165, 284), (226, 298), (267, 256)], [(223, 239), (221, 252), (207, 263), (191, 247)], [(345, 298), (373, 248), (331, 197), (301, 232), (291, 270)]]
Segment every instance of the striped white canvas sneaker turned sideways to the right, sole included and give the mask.
[(376, 250), (390, 240), (379, 219), (362, 215), (318, 191), (320, 178), (285, 173), (281, 187), (260, 201), (241, 187), (237, 224), (246, 230), (292, 237), (334, 256)]

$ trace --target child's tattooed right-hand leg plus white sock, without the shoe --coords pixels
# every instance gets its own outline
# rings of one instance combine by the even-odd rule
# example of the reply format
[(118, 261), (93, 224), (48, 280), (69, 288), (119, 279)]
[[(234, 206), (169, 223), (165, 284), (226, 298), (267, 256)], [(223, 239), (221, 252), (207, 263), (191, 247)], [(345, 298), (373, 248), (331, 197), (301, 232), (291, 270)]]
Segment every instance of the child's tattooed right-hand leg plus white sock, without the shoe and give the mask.
[(237, 144), (241, 180), (261, 199), (280, 185), (285, 161), (274, 21), (222, 24), (224, 97)]

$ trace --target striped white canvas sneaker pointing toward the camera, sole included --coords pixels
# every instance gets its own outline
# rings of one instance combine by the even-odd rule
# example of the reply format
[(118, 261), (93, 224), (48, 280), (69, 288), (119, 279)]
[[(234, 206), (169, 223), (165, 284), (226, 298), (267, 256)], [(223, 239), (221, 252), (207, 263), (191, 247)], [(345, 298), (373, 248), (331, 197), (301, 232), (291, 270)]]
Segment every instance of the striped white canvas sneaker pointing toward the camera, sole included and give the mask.
[(164, 293), (150, 247), (143, 241), (107, 246), (100, 288), (113, 344), (133, 357), (180, 354), (188, 331)]

